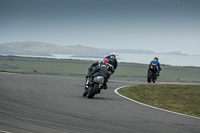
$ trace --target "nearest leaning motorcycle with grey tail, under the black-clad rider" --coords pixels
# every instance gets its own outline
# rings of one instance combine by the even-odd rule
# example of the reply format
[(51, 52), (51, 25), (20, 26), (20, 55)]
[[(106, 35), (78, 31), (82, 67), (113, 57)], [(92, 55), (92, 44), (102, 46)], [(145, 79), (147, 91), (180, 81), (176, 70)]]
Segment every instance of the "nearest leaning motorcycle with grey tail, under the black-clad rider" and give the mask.
[(103, 88), (104, 83), (104, 77), (103, 76), (96, 76), (94, 77), (91, 84), (89, 83), (89, 76), (86, 76), (86, 82), (85, 82), (85, 90), (83, 92), (83, 97), (87, 98), (93, 98), (94, 95), (100, 93), (100, 90)]

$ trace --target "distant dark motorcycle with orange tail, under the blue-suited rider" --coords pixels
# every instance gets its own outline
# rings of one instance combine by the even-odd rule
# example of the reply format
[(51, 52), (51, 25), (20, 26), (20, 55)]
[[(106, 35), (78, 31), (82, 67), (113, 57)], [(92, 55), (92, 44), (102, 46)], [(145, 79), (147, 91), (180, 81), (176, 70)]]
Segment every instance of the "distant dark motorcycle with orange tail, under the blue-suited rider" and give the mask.
[(148, 74), (147, 74), (147, 82), (148, 83), (155, 83), (156, 82), (156, 79), (157, 79), (157, 76), (156, 76), (156, 73), (157, 73), (157, 69), (155, 66), (150, 66), (148, 68)]

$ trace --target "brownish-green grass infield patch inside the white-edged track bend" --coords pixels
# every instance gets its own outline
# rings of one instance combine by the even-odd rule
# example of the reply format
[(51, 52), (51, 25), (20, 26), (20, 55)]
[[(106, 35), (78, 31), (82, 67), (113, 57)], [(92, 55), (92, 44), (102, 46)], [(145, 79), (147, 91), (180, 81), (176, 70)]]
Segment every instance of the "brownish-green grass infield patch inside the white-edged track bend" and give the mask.
[(119, 93), (158, 108), (200, 117), (200, 85), (134, 85)]

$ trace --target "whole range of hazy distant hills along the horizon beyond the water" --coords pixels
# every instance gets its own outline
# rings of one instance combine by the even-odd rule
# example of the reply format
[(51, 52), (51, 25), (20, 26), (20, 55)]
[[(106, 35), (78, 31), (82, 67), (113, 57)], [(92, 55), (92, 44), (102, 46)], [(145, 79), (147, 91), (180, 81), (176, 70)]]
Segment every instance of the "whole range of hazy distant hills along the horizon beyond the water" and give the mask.
[[(116, 53), (134, 53), (134, 54), (158, 54), (150, 50), (134, 49), (98, 49), (82, 45), (61, 46), (50, 43), (24, 41), (0, 44), (0, 54), (7, 55), (38, 55), (50, 56), (51, 54), (73, 54), (75, 56), (103, 56), (110, 52)], [(169, 53), (160, 53), (168, 55), (186, 55), (178, 51)]]

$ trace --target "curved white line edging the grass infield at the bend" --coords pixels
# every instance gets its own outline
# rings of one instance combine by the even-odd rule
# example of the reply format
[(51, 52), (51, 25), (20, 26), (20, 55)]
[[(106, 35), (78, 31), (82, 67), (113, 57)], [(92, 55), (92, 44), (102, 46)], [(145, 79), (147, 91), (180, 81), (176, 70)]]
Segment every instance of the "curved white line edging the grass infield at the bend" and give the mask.
[(154, 106), (151, 106), (151, 105), (147, 105), (147, 104), (144, 104), (144, 103), (141, 103), (141, 102), (135, 101), (135, 100), (130, 99), (130, 98), (128, 98), (128, 97), (125, 97), (125, 96), (123, 96), (123, 95), (121, 95), (121, 94), (118, 93), (118, 90), (121, 89), (121, 88), (124, 88), (124, 87), (127, 87), (127, 86), (121, 86), (121, 87), (115, 89), (115, 93), (116, 93), (117, 95), (119, 95), (119, 96), (125, 98), (125, 99), (128, 99), (128, 100), (130, 100), (130, 101), (132, 101), (132, 102), (135, 102), (135, 103), (138, 103), (138, 104), (141, 104), (141, 105), (144, 105), (144, 106), (150, 107), (150, 108), (154, 108), (154, 109), (157, 109), (157, 110), (162, 110), (162, 111), (169, 112), (169, 113), (173, 113), (173, 114), (177, 114), (177, 115), (187, 116), (187, 117), (191, 117), (191, 118), (195, 118), (195, 119), (200, 119), (199, 117), (190, 116), (190, 115), (185, 115), (185, 114), (181, 114), (181, 113), (177, 113), (177, 112), (173, 112), (173, 111), (169, 111), (169, 110), (165, 110), (165, 109), (157, 108), (157, 107), (154, 107)]

